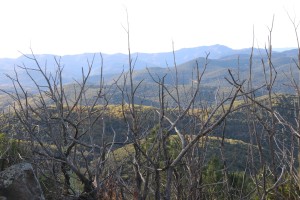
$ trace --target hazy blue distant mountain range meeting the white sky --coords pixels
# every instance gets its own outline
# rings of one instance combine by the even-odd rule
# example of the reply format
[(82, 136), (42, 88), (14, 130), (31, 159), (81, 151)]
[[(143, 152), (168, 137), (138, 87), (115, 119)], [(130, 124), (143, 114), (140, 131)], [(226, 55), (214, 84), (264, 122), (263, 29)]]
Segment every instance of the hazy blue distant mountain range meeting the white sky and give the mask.
[[(216, 78), (216, 74), (220, 74), (221, 71), (226, 70), (229, 67), (236, 67), (238, 65), (238, 58), (240, 59), (240, 67), (249, 64), (249, 55), (251, 48), (245, 49), (231, 49), (223, 45), (212, 45), (212, 46), (200, 46), (195, 48), (184, 48), (174, 52), (176, 64), (178, 67), (190, 73), (191, 66), (195, 65), (195, 60), (201, 61), (203, 57), (209, 54), (210, 65), (208, 73), (211, 78)], [(260, 58), (265, 55), (264, 49), (254, 49), (253, 55), (257, 62), (260, 62)], [(273, 52), (273, 58), (276, 62), (280, 63), (280, 66), (288, 65), (291, 63), (292, 58), (296, 58), (297, 50), (288, 50), (283, 52)], [(32, 55), (28, 55), (32, 56)], [(101, 56), (100, 53), (85, 53), (79, 55), (66, 55), (66, 56), (55, 56), (49, 54), (35, 55), (40, 66), (47, 68), (48, 72), (54, 72), (56, 68), (56, 61), (60, 62), (61, 66), (64, 67), (63, 76), (65, 83), (70, 83), (74, 79), (80, 79), (82, 68), (87, 68), (92, 63), (93, 58), (93, 77), (97, 77), (100, 73)], [(123, 69), (126, 71), (128, 68), (128, 55), (126, 54), (102, 54), (103, 58), (103, 72), (106, 77), (111, 77), (114, 74), (119, 74)], [(135, 62), (136, 79), (143, 78), (145, 68), (151, 68), (156, 73), (166, 73), (167, 67), (171, 68), (174, 66), (173, 52), (163, 53), (134, 53), (132, 55), (133, 62)], [(0, 86), (9, 86), (10, 82), (5, 77), (5, 74), (13, 75), (14, 67), (19, 74), (20, 79), (29, 84), (28, 78), (25, 78), (24, 70), (17, 66), (26, 66), (29, 68), (36, 68), (36, 63), (33, 60), (28, 59), (26, 56), (20, 56), (16, 59), (3, 58), (0, 59)], [(182, 74), (185, 74), (183, 73)], [(39, 75), (35, 75), (32, 72), (35, 80), (39, 81), (41, 78)]]

